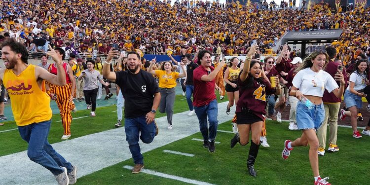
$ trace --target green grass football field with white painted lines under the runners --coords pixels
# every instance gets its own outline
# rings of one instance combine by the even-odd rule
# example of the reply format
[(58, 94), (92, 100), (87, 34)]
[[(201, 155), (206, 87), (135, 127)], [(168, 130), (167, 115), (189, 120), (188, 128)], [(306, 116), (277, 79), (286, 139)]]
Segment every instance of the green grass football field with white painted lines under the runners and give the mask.
[[(288, 160), (281, 151), (286, 139), (294, 140), (300, 131), (288, 130), (288, 122), (266, 122), (270, 148), (260, 147), (255, 169), (257, 177), (247, 172), (249, 146), (236, 145), (230, 149), (230, 120), (225, 100), (219, 101), (219, 127), (216, 151), (202, 147), (202, 136), (196, 115), (187, 116), (185, 97), (175, 101), (174, 128), (167, 130), (165, 114), (158, 113), (159, 134), (151, 144), (140, 142), (145, 168), (132, 174), (134, 166), (125, 138), (124, 128), (114, 128), (116, 107), (97, 109), (90, 117), (88, 110), (73, 114), (72, 137), (61, 141), (63, 134), (59, 114), (53, 115), (49, 142), (68, 161), (76, 165), (77, 185), (312, 185), (313, 175), (308, 161), (308, 147), (295, 148)], [(232, 109), (231, 112), (233, 112)], [(52, 174), (27, 157), (27, 144), (14, 122), (0, 127), (0, 185), (56, 184)], [(370, 138), (355, 139), (349, 128), (338, 128), (335, 153), (319, 157), (322, 177), (330, 177), (333, 185), (367, 185)]]

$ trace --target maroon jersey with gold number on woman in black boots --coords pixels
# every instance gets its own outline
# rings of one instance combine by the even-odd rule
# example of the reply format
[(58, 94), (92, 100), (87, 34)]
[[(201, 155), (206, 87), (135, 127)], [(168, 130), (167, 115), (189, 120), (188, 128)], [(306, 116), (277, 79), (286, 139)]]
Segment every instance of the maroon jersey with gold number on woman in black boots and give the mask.
[[(241, 73), (240, 73), (241, 74)], [(248, 75), (244, 82), (238, 79), (239, 85), (239, 101), (236, 103), (236, 111), (241, 112), (242, 108), (251, 110), (255, 115), (259, 116), (262, 120), (266, 115), (266, 97), (267, 95), (274, 94), (275, 88), (271, 88), (271, 85), (266, 80), (253, 78), (252, 86), (248, 86), (248, 81), (253, 78)]]

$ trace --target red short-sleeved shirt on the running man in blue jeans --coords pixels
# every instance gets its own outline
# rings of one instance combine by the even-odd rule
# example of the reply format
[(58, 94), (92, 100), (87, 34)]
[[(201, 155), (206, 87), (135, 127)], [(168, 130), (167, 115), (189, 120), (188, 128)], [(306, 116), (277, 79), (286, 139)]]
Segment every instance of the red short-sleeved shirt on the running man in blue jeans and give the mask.
[(193, 82), (194, 82), (194, 100), (193, 106), (201, 107), (208, 105), (211, 101), (216, 99), (215, 94), (215, 78), (212, 81), (202, 81), (200, 78), (203, 75), (208, 75), (215, 70), (214, 67), (210, 67), (211, 71), (207, 71), (203, 66), (197, 67), (193, 71)]

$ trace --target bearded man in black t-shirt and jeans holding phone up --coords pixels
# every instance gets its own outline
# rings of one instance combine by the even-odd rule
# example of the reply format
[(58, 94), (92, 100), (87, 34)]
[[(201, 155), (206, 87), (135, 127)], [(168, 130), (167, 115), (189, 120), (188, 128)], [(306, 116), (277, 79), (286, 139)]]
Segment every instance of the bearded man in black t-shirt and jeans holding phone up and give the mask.
[(140, 152), (139, 136), (143, 143), (151, 143), (158, 134), (155, 125), (155, 112), (160, 102), (158, 84), (153, 75), (141, 70), (140, 55), (127, 53), (128, 70), (111, 72), (110, 65), (118, 50), (111, 49), (103, 65), (103, 76), (121, 87), (125, 97), (125, 132), (135, 166), (132, 173), (139, 173), (144, 168), (144, 157)]

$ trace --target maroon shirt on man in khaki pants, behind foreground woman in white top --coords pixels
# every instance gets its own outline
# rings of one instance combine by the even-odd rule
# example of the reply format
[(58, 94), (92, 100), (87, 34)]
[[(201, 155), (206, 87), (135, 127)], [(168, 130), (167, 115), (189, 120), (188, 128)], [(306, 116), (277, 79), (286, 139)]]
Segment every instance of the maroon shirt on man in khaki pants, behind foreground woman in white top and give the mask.
[[(333, 78), (336, 74), (336, 70), (338, 69), (339, 64), (333, 62), (332, 60), (329, 60), (329, 63), (327, 64), (325, 71), (328, 72)], [(347, 84), (347, 73), (346, 70), (343, 68), (343, 76), (344, 76), (344, 81)], [(334, 78), (335, 79), (335, 78)], [(336, 81), (338, 86), (340, 86), (340, 82)], [(337, 98), (334, 93), (329, 93), (328, 90), (325, 89), (324, 95), (323, 95), (323, 103), (338, 103), (341, 101), (341, 98)]]

